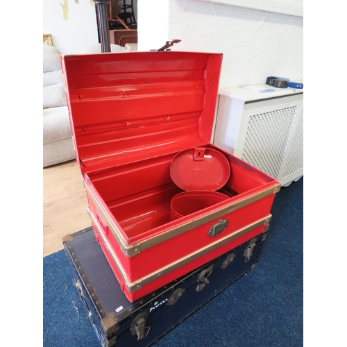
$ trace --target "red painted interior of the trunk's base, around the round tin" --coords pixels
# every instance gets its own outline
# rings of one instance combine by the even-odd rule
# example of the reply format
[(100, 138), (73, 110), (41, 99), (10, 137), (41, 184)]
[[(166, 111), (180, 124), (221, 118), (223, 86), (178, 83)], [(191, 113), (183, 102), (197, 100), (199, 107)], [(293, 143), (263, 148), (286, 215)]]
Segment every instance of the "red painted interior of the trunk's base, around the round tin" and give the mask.
[[(164, 231), (164, 224), (171, 222), (171, 198), (184, 192), (171, 180), (170, 165), (173, 157), (164, 155), (88, 175), (92, 187), (121, 226), (126, 239), (135, 242), (135, 239), (142, 239), (142, 234), (146, 232)], [(230, 204), (239, 198), (239, 194), (241, 199), (251, 196), (264, 189), (264, 185), (274, 182), (273, 178), (259, 174), (256, 169), (250, 170), (241, 160), (230, 155), (227, 158), (230, 163), (230, 180), (220, 191), (230, 196), (230, 199), (218, 206)], [(266, 210), (263, 217), (266, 213), (269, 211)]]

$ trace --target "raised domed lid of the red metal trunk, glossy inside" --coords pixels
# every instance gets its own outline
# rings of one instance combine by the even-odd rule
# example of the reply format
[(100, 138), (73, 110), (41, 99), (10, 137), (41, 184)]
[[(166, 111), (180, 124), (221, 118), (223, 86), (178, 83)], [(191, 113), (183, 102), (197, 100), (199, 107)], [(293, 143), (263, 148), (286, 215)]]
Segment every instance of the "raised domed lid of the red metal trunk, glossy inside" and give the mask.
[(82, 173), (210, 142), (221, 54), (62, 56)]

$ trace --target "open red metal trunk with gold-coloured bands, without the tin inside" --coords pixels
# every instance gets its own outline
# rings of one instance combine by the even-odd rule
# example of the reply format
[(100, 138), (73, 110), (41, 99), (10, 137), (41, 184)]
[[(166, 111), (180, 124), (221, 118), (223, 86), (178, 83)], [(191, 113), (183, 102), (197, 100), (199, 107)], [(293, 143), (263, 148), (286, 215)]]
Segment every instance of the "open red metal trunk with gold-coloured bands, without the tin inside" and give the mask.
[[(280, 184), (210, 144), (221, 61), (176, 51), (62, 57), (93, 229), (131, 302), (259, 235), (271, 219)], [(188, 149), (226, 158), (217, 189), (228, 198), (172, 218), (171, 199), (184, 190), (171, 163)], [(208, 174), (213, 180), (217, 167)]]

